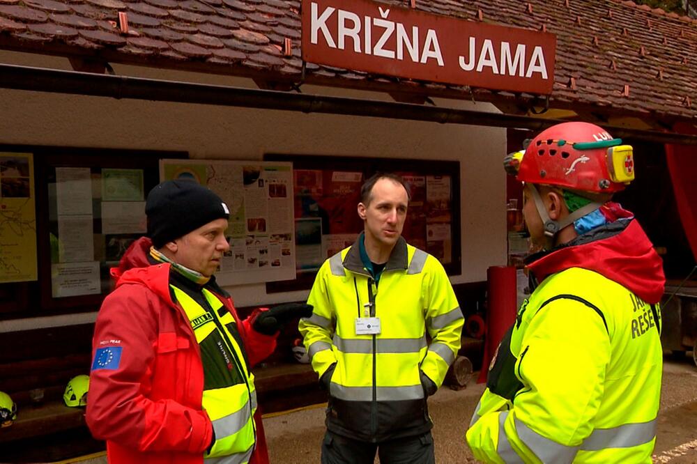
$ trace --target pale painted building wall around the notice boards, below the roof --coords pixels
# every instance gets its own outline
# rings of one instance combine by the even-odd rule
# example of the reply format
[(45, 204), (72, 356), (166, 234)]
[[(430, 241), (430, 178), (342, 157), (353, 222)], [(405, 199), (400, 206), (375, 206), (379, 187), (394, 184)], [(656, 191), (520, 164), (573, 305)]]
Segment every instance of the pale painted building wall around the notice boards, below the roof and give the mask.
[[(71, 70), (67, 59), (0, 52), (0, 63)], [(250, 79), (114, 65), (118, 75), (256, 88)], [(303, 93), (392, 101), (388, 95), (303, 86)], [(436, 105), (498, 111), (487, 103)], [(453, 284), (486, 279), (506, 260), (506, 132), (382, 118), (302, 114), (209, 105), (0, 89), (0, 143), (187, 150), (192, 158), (261, 160), (264, 153), (459, 160), (462, 272)], [(227, 288), (238, 306), (302, 300), (307, 291), (266, 295), (263, 284)], [(0, 332), (83, 323), (95, 314), (0, 321)]]

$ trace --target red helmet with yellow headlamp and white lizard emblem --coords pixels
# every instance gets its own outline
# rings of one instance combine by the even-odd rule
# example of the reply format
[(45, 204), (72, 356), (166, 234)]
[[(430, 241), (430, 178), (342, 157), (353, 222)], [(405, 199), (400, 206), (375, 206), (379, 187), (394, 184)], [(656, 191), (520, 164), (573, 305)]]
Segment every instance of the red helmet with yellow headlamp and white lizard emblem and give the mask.
[(619, 192), (634, 180), (631, 146), (590, 123), (553, 125), (530, 142), (522, 157), (509, 155), (505, 164), (523, 182), (583, 192)]

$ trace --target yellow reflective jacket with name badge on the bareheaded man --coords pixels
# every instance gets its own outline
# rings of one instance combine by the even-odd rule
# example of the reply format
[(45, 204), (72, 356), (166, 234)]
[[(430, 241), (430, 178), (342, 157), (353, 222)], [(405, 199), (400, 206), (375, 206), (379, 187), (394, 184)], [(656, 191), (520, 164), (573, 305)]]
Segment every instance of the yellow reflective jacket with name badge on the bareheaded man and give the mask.
[[(429, 431), (421, 373), (443, 383), (464, 322), (441, 263), (400, 238), (376, 284), (356, 242), (323, 263), (307, 302), (299, 329), (312, 366), (321, 378), (336, 364), (328, 429), (372, 442)], [(356, 319), (371, 316), (381, 332), (357, 335)]]

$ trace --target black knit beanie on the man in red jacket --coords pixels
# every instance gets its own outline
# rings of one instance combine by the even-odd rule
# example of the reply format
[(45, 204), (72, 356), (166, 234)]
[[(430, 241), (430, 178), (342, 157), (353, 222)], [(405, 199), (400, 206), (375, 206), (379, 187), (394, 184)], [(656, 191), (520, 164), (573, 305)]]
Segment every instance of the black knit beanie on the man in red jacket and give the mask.
[(229, 219), (227, 205), (194, 180), (166, 180), (153, 188), (145, 204), (148, 237), (155, 248), (215, 219)]

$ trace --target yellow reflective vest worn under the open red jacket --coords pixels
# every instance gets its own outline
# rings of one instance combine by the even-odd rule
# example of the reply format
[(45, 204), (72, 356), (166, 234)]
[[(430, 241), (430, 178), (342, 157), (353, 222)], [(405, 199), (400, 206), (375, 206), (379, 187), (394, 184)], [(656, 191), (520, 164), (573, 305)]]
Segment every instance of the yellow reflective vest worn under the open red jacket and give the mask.
[[(254, 412), (256, 412), (256, 390), (254, 374), (247, 368), (243, 349), (227, 329), (235, 324), (229, 311), (218, 311), (224, 305), (210, 291), (203, 289), (204, 297), (213, 311), (206, 311), (183, 290), (171, 286), (176, 300), (183, 307), (196, 341), (204, 342), (213, 332), (222, 333), (222, 341), (227, 346), (224, 352), (233, 353), (229, 363), (236, 365), (241, 381), (236, 385), (222, 388), (204, 389), (201, 404), (213, 422), (215, 443), (210, 453), (204, 454), (206, 464), (243, 464), (250, 461), (256, 442)], [(222, 313), (222, 316), (220, 315)]]

